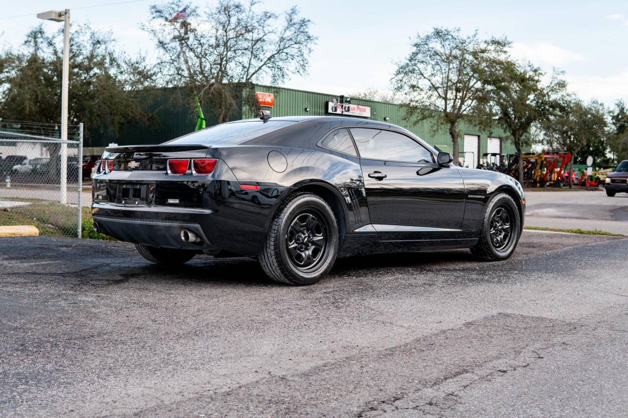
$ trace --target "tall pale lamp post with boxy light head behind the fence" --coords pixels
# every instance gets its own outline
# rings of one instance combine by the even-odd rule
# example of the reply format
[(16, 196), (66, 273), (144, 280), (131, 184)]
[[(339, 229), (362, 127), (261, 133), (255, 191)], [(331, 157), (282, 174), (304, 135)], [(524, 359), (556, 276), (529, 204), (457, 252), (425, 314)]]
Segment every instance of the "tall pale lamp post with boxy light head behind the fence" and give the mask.
[[(65, 205), (68, 201), (68, 67), (70, 66), (70, 9), (64, 11), (50, 10), (38, 13), (39, 19), (51, 20), (54, 22), (64, 22), (63, 26), (63, 70), (61, 82), (61, 153), (59, 155), (60, 183), (61, 183), (61, 203)], [(81, 162), (78, 161), (78, 164)], [(78, 179), (80, 181), (80, 179)]]

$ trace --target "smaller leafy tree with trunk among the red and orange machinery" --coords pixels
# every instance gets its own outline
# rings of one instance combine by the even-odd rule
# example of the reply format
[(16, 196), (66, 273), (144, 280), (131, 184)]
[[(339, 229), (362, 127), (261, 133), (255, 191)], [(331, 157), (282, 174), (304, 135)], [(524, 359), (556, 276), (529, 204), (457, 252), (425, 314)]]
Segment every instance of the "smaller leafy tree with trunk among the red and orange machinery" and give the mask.
[[(580, 99), (566, 96), (563, 105), (544, 122), (545, 139), (549, 148), (571, 153), (570, 173), (573, 173), (573, 161), (580, 156), (587, 141), (604, 139), (607, 129), (606, 114), (606, 109), (600, 102), (592, 100), (584, 104)], [(571, 176), (569, 187), (571, 188)]]

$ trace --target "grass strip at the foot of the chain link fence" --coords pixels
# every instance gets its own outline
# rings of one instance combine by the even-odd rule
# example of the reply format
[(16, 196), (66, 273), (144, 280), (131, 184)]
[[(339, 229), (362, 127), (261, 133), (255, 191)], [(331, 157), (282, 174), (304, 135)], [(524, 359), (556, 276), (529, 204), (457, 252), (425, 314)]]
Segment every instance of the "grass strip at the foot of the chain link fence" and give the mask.
[[(4, 198), (3, 200), (19, 201), (18, 199)], [(21, 201), (26, 201), (26, 199)], [(33, 225), (40, 230), (40, 235), (76, 238), (78, 236), (77, 210), (76, 207), (61, 205), (60, 203), (33, 201), (26, 206), (0, 209), (0, 226)], [(91, 208), (82, 208), (81, 220), (83, 238), (114, 241), (114, 238), (94, 230)]]

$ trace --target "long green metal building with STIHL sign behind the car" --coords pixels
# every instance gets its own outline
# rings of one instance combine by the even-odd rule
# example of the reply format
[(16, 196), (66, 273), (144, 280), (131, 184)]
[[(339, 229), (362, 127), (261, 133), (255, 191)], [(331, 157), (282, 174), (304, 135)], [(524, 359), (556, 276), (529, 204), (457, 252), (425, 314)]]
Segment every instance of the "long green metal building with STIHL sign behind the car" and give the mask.
[[(273, 116), (340, 115), (342, 112), (342, 110), (333, 112), (332, 101), (333, 99), (338, 100), (338, 95), (268, 85), (256, 85), (255, 90), (262, 93), (261, 97), (266, 97), (266, 99), (270, 97), (268, 94), (272, 95), (273, 106), (264, 106), (262, 109), (271, 110)], [(90, 132), (90, 135), (85, 138), (85, 147), (87, 148), (85, 151), (99, 154), (102, 153), (105, 146), (112, 142), (119, 145), (158, 144), (193, 131), (196, 124), (195, 116), (185, 104), (176, 107), (169, 105), (171, 94), (172, 90), (160, 90), (158, 97), (153, 100), (154, 104), (149, 109), (155, 112), (159, 124), (126, 126), (120, 136), (115, 136), (107, 131)], [(269, 102), (262, 103), (270, 104)], [(433, 129), (433, 122), (431, 121), (409, 121), (405, 117), (405, 110), (400, 105), (357, 98), (351, 98), (351, 105), (364, 111), (361, 112), (362, 116), (349, 115), (349, 117), (390, 122), (408, 129), (408, 131), (443, 151), (452, 152), (452, 138), (447, 127), (442, 126)], [(203, 109), (203, 112), (207, 117), (207, 126), (214, 125), (216, 121), (215, 119), (212, 120), (211, 109)], [(232, 115), (230, 120), (254, 118), (257, 117), (257, 112), (257, 109), (242, 105), (241, 109)], [(347, 113), (342, 115), (347, 116)], [(460, 122), (458, 131), (461, 134), (460, 159), (465, 166), (476, 166), (484, 153), (515, 153), (512, 142), (506, 139), (506, 132), (497, 127), (491, 132), (483, 132), (478, 127)]]

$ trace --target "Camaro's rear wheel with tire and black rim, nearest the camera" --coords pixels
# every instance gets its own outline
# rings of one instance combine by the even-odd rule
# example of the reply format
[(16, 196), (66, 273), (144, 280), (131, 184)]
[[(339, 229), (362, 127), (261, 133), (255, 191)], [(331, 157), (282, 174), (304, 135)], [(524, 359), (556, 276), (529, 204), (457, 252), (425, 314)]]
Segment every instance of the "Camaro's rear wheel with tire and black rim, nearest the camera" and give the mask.
[(320, 196), (290, 196), (271, 222), (259, 264), (274, 281), (313, 284), (332, 268), (338, 254), (338, 223)]

